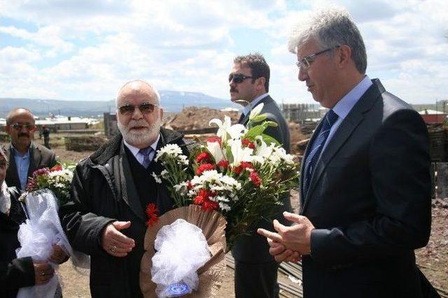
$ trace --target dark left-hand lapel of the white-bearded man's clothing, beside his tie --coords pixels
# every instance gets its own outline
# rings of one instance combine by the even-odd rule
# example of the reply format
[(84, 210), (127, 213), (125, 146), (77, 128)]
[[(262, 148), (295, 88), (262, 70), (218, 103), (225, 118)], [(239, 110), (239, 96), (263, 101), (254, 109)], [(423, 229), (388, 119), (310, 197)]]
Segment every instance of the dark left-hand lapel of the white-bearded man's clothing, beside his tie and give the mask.
[[(142, 221), (146, 221), (145, 211), (141, 207), (141, 203), (139, 200), (139, 193), (137, 192), (137, 188), (134, 184), (134, 179), (132, 179), (131, 167), (129, 161), (127, 160), (127, 155), (125, 152), (124, 143), (121, 143), (120, 147), (120, 186), (121, 186), (121, 195), (126, 204), (130, 207), (130, 209), (140, 218)], [(125, 176), (125, 173), (127, 175)]]

